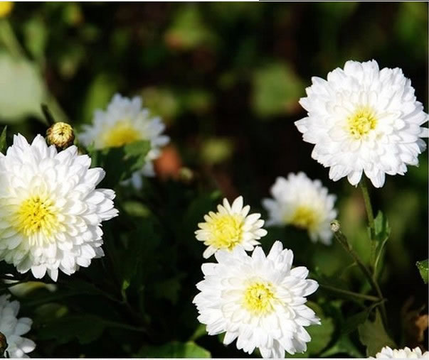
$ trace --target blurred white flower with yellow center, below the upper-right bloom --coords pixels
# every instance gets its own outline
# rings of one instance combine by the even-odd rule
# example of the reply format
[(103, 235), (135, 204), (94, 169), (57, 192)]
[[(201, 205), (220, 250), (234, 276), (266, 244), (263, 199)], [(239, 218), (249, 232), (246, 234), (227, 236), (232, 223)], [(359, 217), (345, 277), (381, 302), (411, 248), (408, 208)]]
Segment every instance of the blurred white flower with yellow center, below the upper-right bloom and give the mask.
[(335, 195), (329, 195), (320, 180), (310, 180), (304, 173), (279, 177), (271, 187), (274, 199), (264, 199), (270, 219), (267, 225), (294, 225), (307, 229), (312, 241), (331, 244), (330, 224), (337, 217)]

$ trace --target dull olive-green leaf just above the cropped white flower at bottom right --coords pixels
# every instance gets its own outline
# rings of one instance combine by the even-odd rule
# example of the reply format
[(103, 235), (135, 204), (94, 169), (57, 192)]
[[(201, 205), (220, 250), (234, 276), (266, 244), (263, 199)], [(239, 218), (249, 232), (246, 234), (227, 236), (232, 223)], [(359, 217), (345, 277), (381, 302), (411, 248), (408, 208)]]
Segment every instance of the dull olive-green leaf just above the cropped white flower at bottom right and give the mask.
[(376, 318), (374, 322), (366, 320), (364, 324), (359, 325), (359, 339), (366, 347), (366, 356), (374, 356), (383, 347), (395, 348), (396, 344), (388, 336), (386, 329), (384, 329), (381, 315), (376, 311)]

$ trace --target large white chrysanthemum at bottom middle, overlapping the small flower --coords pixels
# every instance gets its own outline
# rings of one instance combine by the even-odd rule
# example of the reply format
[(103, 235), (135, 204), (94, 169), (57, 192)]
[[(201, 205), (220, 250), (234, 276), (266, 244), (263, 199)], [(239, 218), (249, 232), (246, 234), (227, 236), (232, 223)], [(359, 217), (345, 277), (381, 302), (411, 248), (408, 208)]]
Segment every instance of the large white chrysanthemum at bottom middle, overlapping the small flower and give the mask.
[(263, 357), (306, 351), (311, 338), (304, 327), (320, 321), (305, 297), (319, 285), (306, 279), (304, 266), (291, 268), (292, 250), (276, 241), (267, 257), (260, 246), (252, 256), (240, 246), (215, 256), (218, 263), (203, 264), (194, 298), (208, 334), (226, 332), (224, 344), (237, 339), (238, 349), (251, 354), (258, 347)]

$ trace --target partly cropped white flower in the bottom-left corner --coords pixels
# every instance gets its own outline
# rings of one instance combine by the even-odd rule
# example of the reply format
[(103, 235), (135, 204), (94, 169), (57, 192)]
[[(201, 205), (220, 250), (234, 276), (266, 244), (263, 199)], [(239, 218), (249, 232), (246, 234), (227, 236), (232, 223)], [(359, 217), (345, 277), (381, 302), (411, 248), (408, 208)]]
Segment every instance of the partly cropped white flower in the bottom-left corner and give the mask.
[(33, 321), (28, 317), (16, 317), (19, 311), (18, 301), (9, 301), (10, 295), (0, 296), (0, 332), (6, 337), (6, 351), (11, 358), (28, 357), (27, 353), (34, 350), (33, 340), (22, 337), (31, 329)]

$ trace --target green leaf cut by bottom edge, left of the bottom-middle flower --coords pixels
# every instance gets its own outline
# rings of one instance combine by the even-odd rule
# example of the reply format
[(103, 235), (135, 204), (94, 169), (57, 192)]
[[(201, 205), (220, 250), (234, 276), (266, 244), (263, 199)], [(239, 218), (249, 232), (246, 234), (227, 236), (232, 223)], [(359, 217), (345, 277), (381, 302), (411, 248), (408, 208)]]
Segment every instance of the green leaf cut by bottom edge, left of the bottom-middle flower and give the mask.
[(144, 346), (136, 357), (209, 358), (211, 354), (194, 342), (169, 342), (160, 347)]

